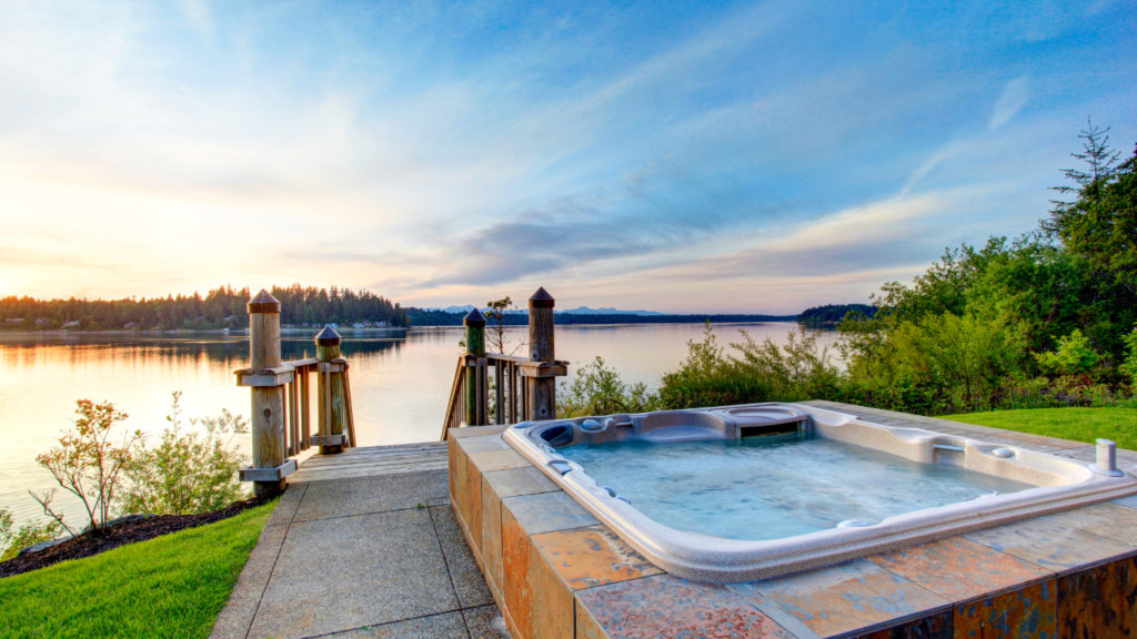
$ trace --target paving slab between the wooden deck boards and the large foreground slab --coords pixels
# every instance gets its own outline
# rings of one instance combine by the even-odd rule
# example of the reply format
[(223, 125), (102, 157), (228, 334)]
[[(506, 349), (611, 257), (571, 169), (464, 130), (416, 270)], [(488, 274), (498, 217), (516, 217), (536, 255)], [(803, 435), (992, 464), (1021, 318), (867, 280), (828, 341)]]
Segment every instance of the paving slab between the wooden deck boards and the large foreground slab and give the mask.
[(446, 504), (446, 470), (309, 482), (293, 523)]

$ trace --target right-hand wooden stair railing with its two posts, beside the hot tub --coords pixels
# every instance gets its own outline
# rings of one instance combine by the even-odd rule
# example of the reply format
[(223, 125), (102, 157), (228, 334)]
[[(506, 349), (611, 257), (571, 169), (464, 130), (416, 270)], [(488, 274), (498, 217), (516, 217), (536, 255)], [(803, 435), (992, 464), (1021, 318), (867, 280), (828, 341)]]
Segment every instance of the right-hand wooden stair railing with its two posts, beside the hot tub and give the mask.
[(458, 357), (454, 373), (443, 441), (449, 429), (487, 425), (491, 414), (495, 424), (556, 416), (556, 377), (567, 374), (568, 363), (553, 357), (553, 305), (543, 288), (529, 300), (530, 357), (485, 352), (485, 318), (478, 309), (470, 312), (463, 321), (467, 351)]

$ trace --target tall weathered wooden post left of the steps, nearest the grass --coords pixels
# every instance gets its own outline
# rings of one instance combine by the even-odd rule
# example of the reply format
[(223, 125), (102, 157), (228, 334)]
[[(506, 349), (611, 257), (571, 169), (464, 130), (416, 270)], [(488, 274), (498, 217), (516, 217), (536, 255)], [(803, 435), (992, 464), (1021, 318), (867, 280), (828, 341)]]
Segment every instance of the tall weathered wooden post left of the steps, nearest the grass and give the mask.
[(238, 371), (238, 385), (252, 388), (252, 467), (242, 468), (241, 481), (254, 482), (258, 499), (284, 490), (284, 476), (296, 462), (284, 460), (284, 384), (292, 368), (281, 364), (281, 302), (262, 290), (249, 301), (249, 368)]

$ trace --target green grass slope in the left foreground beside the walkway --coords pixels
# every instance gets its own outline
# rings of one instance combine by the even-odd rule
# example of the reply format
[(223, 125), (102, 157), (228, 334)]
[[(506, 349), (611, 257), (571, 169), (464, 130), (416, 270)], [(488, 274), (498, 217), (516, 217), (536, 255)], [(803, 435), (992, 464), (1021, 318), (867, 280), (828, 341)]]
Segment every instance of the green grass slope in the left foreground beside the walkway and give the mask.
[(0, 636), (208, 637), (273, 507), (0, 579)]

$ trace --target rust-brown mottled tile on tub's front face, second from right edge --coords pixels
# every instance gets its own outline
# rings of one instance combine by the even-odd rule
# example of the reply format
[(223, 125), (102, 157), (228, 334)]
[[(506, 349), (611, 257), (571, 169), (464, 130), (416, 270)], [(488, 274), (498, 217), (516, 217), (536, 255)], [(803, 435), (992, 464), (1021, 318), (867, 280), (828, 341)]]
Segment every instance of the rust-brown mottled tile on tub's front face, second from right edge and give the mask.
[(956, 606), (955, 636), (976, 639), (1053, 639), (1057, 589), (1051, 579)]

